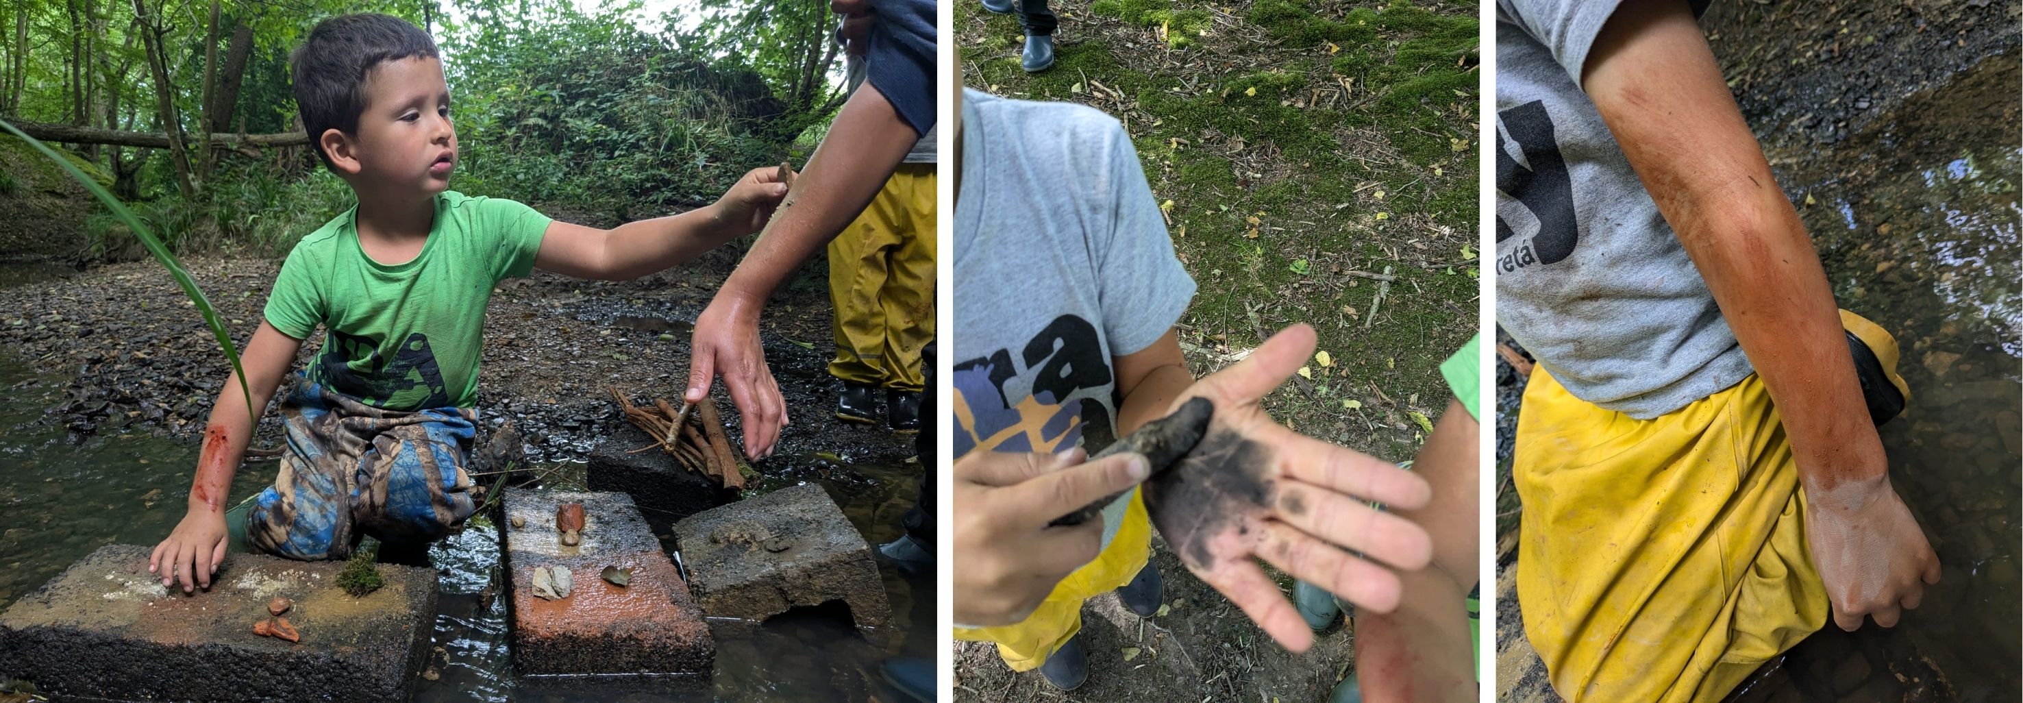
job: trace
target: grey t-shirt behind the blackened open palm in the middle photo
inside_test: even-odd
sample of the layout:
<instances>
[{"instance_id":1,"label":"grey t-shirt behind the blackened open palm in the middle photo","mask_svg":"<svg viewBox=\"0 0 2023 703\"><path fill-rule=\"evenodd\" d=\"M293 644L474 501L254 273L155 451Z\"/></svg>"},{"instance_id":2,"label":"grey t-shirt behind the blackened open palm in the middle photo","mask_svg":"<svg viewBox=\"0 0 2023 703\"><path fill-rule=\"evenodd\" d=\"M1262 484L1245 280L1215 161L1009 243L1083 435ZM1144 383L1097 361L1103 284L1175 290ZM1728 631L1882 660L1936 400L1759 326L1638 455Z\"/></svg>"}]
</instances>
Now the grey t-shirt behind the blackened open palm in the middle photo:
<instances>
[{"instance_id":1,"label":"grey t-shirt behind the blackened open palm in the middle photo","mask_svg":"<svg viewBox=\"0 0 2023 703\"><path fill-rule=\"evenodd\" d=\"M955 456L1098 452L1117 438L1111 357L1179 322L1173 255L1117 118L963 91L955 203ZM1105 543L1121 509L1105 511Z\"/></svg>"}]
</instances>

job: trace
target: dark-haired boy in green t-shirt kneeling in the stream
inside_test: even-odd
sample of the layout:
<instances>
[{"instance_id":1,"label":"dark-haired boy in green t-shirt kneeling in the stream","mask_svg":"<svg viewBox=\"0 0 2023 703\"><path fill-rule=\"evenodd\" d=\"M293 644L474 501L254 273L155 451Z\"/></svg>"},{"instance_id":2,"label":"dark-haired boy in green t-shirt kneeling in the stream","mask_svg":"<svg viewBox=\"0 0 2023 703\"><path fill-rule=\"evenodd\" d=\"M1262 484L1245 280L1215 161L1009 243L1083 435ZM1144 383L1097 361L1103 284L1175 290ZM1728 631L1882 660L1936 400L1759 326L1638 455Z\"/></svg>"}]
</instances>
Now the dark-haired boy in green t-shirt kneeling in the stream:
<instances>
[{"instance_id":1,"label":"dark-haired boy in green t-shirt kneeling in the stream","mask_svg":"<svg viewBox=\"0 0 2023 703\"><path fill-rule=\"evenodd\" d=\"M457 132L435 41L386 14L320 22L293 55L295 103L324 166L358 205L301 237L281 263L241 365L267 407L301 340L328 330L281 401L287 452L273 486L225 511L255 411L229 377L204 429L190 513L156 547L162 585L210 588L227 533L289 559L344 559L364 535L415 549L473 511L483 310L534 267L627 280L759 231L785 197L775 168L746 172L710 207L591 229L502 199L449 190Z\"/></svg>"}]
</instances>

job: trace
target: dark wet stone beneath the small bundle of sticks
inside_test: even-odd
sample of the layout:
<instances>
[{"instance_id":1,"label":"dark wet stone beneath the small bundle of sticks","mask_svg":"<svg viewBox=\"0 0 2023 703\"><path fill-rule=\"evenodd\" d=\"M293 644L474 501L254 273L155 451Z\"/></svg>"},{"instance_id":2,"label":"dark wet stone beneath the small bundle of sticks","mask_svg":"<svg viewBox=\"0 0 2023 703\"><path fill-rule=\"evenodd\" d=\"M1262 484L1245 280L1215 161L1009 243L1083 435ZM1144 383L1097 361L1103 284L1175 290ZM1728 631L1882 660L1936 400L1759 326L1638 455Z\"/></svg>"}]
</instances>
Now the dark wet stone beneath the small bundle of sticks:
<instances>
[{"instance_id":1,"label":"dark wet stone beneath the small bundle of sticks","mask_svg":"<svg viewBox=\"0 0 2023 703\"><path fill-rule=\"evenodd\" d=\"M617 490L657 525L674 525L684 517L728 504L736 490L724 490L722 480L688 470L668 452L633 450L653 444L639 427L621 423L595 450L585 468L591 490Z\"/></svg>"}]
</instances>

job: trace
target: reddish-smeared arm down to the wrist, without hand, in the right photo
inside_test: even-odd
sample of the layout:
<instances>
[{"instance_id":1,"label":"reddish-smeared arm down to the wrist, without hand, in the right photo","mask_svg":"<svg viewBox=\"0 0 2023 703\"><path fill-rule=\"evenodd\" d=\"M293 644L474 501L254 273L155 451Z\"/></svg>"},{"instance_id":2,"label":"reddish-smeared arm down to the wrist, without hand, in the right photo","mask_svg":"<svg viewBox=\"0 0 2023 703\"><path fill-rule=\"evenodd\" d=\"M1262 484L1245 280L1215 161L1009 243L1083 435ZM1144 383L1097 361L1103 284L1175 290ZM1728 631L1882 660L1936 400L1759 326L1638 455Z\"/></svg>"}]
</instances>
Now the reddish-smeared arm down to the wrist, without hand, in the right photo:
<instances>
[{"instance_id":1,"label":"reddish-smeared arm down to the wrist, without hand, in the right photo","mask_svg":"<svg viewBox=\"0 0 2023 703\"><path fill-rule=\"evenodd\" d=\"M1616 10L1584 89L1776 401L1807 488L1879 480L1819 253L1685 4Z\"/></svg>"}]
</instances>

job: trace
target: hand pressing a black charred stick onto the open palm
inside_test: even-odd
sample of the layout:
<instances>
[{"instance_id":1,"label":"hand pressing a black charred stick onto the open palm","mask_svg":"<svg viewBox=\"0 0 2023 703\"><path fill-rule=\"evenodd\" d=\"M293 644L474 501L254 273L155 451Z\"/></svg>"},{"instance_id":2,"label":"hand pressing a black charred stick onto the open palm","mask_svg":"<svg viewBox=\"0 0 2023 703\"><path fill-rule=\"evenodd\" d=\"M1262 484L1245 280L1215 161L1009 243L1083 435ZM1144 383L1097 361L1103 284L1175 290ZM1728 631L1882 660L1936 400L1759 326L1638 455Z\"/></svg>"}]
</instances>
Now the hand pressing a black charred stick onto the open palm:
<instances>
[{"instance_id":1,"label":"hand pressing a black charred stick onto the open palm","mask_svg":"<svg viewBox=\"0 0 2023 703\"><path fill-rule=\"evenodd\" d=\"M1103 551L1103 521L1048 527L1149 472L1143 454L969 452L955 460L955 622L1016 624Z\"/></svg>"}]
</instances>

